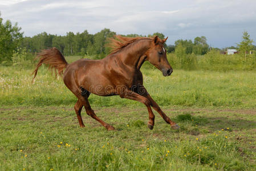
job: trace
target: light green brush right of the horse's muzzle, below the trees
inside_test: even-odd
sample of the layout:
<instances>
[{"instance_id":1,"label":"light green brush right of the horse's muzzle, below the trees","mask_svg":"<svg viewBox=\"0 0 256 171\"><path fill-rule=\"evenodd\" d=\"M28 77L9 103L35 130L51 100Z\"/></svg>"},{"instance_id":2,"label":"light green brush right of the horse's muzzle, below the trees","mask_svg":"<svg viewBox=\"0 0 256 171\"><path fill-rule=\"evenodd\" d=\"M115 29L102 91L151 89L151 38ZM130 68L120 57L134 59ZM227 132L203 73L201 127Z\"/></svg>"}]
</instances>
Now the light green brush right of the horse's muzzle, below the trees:
<instances>
[{"instance_id":1,"label":"light green brush right of the horse's muzzle, below the trees","mask_svg":"<svg viewBox=\"0 0 256 171\"><path fill-rule=\"evenodd\" d=\"M212 71L250 71L256 70L256 54L224 55L212 50L202 56L185 53L171 53L167 58L174 69L212 70Z\"/></svg>"}]
</instances>

